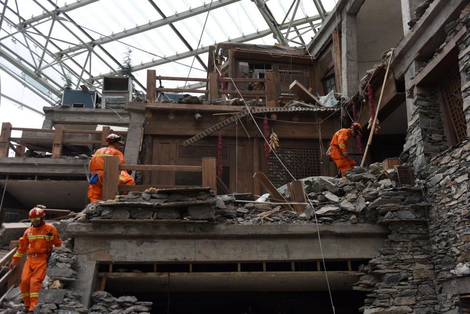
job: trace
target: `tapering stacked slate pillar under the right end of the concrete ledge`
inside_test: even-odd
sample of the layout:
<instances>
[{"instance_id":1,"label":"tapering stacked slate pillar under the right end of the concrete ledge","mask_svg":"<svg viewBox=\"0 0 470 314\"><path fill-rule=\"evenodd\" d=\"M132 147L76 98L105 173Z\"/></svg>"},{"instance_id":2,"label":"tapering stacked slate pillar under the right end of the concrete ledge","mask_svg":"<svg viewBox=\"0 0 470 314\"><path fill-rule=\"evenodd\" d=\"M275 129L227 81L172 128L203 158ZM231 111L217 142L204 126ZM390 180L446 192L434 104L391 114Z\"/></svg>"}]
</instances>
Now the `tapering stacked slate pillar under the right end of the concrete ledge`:
<instances>
[{"instance_id":1,"label":"tapering stacked slate pillar under the right end of the concrete ledge","mask_svg":"<svg viewBox=\"0 0 470 314\"><path fill-rule=\"evenodd\" d=\"M359 269L354 290L369 291L364 314L431 314L439 311L427 221L406 219L389 225L384 247Z\"/></svg>"}]
</instances>

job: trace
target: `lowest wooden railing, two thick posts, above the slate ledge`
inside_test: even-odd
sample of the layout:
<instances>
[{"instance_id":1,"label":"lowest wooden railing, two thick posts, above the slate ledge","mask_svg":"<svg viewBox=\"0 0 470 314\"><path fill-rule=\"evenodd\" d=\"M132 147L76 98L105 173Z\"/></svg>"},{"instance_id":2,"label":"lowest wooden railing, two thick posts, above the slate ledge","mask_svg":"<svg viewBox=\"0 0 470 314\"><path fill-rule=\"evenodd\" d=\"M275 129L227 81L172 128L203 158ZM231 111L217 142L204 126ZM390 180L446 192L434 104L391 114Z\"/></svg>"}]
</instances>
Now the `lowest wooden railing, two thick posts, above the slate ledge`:
<instances>
[{"instance_id":1,"label":"lowest wooden railing, two thick posts, above the slate ledge","mask_svg":"<svg viewBox=\"0 0 470 314\"><path fill-rule=\"evenodd\" d=\"M145 191L148 188L189 188L189 185L123 185L119 184L120 170L138 171L185 171L202 172L201 187L212 188L217 193L215 158L202 158L201 166L175 166L175 165L119 165L117 156L104 157L103 167L103 200L114 199L119 191Z\"/></svg>"}]
</instances>

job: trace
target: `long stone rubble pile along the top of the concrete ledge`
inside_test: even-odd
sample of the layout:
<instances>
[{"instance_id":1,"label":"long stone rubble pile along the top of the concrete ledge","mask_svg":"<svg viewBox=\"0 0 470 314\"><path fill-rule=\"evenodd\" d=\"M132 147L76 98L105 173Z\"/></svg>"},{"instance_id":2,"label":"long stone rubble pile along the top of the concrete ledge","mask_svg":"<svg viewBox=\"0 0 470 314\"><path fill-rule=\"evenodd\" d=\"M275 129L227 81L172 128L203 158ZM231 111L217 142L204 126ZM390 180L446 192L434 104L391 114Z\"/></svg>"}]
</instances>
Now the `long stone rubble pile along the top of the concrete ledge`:
<instances>
[{"instance_id":1,"label":"long stone rubble pile along the top of the concrete ledge","mask_svg":"<svg viewBox=\"0 0 470 314\"><path fill-rule=\"evenodd\" d=\"M305 180L305 193L313 206L303 213L282 211L260 219L258 214L281 209L269 202L243 202L239 195L214 196L209 189L164 189L131 192L114 201L89 204L75 220L93 219L176 219L216 221L227 224L287 223L380 223L393 219L423 219L422 191L419 187L395 187L391 179L378 180L379 163L369 171L355 167L341 179L318 177ZM392 173L393 177L393 173ZM289 195L284 195L289 200Z\"/></svg>"}]
</instances>

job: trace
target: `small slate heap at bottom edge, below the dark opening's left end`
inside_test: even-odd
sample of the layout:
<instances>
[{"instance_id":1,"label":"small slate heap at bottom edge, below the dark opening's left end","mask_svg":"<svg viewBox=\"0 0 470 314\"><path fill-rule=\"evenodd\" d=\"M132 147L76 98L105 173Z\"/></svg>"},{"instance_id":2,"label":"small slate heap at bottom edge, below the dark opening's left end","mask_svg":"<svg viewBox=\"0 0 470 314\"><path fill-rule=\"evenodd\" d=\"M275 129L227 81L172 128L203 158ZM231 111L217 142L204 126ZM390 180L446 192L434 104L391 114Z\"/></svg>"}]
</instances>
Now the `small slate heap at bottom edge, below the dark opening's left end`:
<instances>
[{"instance_id":1,"label":"small slate heap at bottom edge, below the dark opening's left end","mask_svg":"<svg viewBox=\"0 0 470 314\"><path fill-rule=\"evenodd\" d=\"M106 291L92 293L89 314L149 314L152 302L139 302L135 296L113 297Z\"/></svg>"}]
</instances>

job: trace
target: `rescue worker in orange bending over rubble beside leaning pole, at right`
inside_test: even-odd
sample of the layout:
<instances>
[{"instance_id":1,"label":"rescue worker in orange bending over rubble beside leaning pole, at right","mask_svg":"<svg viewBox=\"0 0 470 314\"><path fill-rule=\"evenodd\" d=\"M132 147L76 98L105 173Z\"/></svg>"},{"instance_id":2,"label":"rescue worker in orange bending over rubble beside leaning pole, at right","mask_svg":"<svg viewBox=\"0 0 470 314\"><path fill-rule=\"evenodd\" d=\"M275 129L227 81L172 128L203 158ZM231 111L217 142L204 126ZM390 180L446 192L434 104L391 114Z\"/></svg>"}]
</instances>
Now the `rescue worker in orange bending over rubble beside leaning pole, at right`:
<instances>
[{"instance_id":1,"label":"rescue worker in orange bending over rubble beside leaning pole, at right","mask_svg":"<svg viewBox=\"0 0 470 314\"><path fill-rule=\"evenodd\" d=\"M354 122L349 129L341 129L334 133L329 144L329 157L339 168L342 176L356 165L356 162L348 157L346 149L349 145L349 139L357 135L362 136L362 125Z\"/></svg>"}]
</instances>

